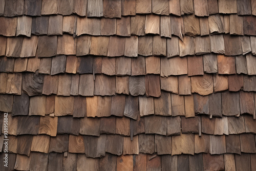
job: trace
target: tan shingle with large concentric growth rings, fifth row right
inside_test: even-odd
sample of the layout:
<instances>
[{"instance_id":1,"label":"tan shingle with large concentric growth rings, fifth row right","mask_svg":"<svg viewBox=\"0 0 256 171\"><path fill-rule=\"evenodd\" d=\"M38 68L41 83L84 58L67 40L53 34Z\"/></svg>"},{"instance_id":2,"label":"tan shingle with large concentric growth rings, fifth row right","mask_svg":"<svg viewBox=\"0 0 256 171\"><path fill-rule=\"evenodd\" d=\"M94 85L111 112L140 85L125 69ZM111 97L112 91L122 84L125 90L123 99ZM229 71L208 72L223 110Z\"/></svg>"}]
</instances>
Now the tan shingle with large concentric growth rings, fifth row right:
<instances>
[{"instance_id":1,"label":"tan shingle with large concentric growth rings, fifth row right","mask_svg":"<svg viewBox=\"0 0 256 171\"><path fill-rule=\"evenodd\" d=\"M200 95L208 95L214 91L212 76L204 74L203 76L191 77L191 92Z\"/></svg>"}]
</instances>

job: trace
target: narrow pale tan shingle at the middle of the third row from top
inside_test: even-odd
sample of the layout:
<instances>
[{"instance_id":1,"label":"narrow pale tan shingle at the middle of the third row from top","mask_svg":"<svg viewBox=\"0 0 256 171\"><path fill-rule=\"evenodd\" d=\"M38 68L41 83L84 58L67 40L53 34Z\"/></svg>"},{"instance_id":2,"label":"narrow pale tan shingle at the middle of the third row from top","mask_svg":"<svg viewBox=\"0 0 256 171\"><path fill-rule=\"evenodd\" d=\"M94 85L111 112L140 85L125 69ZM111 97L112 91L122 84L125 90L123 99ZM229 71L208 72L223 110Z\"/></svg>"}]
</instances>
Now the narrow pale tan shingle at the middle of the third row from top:
<instances>
[{"instance_id":1,"label":"narrow pale tan shingle at the middle of the third row from top","mask_svg":"<svg viewBox=\"0 0 256 171\"><path fill-rule=\"evenodd\" d=\"M125 37L124 56L137 57L138 56L138 37Z\"/></svg>"}]
</instances>

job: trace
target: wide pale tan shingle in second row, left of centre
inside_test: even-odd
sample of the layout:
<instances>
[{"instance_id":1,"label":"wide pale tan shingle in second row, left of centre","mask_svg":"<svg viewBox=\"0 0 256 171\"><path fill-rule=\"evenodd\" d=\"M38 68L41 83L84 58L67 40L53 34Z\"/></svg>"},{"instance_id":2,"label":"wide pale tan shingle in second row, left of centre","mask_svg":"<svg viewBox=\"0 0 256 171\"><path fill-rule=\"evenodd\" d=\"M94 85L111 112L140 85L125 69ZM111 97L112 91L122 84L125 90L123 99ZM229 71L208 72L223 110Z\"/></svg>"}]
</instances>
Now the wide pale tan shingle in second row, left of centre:
<instances>
[{"instance_id":1,"label":"wide pale tan shingle in second row, left of centre","mask_svg":"<svg viewBox=\"0 0 256 171\"><path fill-rule=\"evenodd\" d=\"M102 0L101 0L102 1ZM99 1L93 1L98 3ZM88 1L88 8L89 8ZM89 11L87 11L89 12ZM77 17L77 28L76 35L89 34L89 35L100 35L100 19L99 18L89 18L89 17Z\"/></svg>"}]
</instances>

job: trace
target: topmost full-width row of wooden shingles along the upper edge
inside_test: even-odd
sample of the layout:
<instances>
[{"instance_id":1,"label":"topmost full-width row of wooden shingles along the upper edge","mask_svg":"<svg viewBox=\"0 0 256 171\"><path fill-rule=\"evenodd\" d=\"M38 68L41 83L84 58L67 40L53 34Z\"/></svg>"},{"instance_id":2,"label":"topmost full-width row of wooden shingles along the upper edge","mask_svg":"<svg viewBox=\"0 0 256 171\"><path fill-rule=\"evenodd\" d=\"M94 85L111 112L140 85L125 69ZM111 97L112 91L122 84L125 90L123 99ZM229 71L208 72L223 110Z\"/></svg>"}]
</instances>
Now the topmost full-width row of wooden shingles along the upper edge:
<instances>
[{"instance_id":1,"label":"topmost full-width row of wooden shingles along the upper edge","mask_svg":"<svg viewBox=\"0 0 256 171\"><path fill-rule=\"evenodd\" d=\"M255 13L255 2L247 2L243 0L229 2L225 1L185 1L185 0L165 0L158 2L157 0L118 0L118 1L77 1L73 2L70 0L66 1L37 1L30 2L20 1L13 6L13 1L5 2L2 1L2 8L0 14L5 16L16 16L16 15L52 15L62 14L70 15L76 13L80 16L90 17L117 17L121 15L136 15L155 13L160 15L183 15L193 14L195 9L195 15L197 16L208 16L216 13L238 13L239 15L256 15ZM83 8L79 8L83 6ZM36 7L36 8L34 8ZM96 8L97 7L97 8ZM115 7L109 10L109 7Z\"/></svg>"}]
</instances>

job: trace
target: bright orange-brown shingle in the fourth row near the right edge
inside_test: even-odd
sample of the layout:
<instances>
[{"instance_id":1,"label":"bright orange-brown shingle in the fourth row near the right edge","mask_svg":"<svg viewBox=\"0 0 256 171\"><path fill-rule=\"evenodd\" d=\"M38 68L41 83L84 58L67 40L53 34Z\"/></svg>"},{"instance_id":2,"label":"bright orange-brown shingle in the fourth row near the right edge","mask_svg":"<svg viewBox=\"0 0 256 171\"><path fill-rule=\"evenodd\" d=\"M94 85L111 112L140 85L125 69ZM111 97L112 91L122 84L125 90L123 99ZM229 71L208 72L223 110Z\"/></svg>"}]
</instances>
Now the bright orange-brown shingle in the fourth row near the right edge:
<instances>
[{"instance_id":1,"label":"bright orange-brown shingle in the fourth row near the right edge","mask_svg":"<svg viewBox=\"0 0 256 171\"><path fill-rule=\"evenodd\" d=\"M219 74L236 74L236 58L233 56L217 55Z\"/></svg>"}]
</instances>

